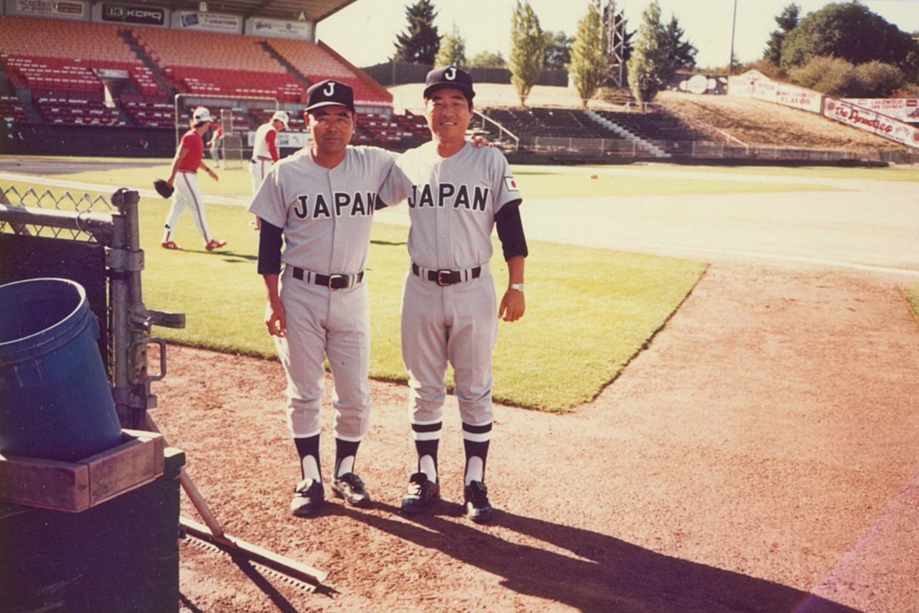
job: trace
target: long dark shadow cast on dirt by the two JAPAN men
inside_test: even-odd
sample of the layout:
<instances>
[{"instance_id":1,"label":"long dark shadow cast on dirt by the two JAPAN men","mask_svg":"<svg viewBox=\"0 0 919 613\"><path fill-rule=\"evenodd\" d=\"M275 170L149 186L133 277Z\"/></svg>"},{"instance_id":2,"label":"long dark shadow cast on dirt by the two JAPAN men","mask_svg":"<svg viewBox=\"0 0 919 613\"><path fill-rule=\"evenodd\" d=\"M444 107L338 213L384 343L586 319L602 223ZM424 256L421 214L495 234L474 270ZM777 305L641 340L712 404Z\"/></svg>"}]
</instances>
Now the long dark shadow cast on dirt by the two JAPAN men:
<instances>
[{"instance_id":1,"label":"long dark shadow cast on dirt by the two JAPAN men","mask_svg":"<svg viewBox=\"0 0 919 613\"><path fill-rule=\"evenodd\" d=\"M413 523L340 508L342 514L371 528L503 576L502 585L519 594L582 611L859 613L787 585L672 558L598 532L497 510L494 526L539 539L549 547L516 544L472 524L444 518L461 514L455 504L441 503L439 516L409 518ZM399 513L391 505L376 508Z\"/></svg>"}]
</instances>

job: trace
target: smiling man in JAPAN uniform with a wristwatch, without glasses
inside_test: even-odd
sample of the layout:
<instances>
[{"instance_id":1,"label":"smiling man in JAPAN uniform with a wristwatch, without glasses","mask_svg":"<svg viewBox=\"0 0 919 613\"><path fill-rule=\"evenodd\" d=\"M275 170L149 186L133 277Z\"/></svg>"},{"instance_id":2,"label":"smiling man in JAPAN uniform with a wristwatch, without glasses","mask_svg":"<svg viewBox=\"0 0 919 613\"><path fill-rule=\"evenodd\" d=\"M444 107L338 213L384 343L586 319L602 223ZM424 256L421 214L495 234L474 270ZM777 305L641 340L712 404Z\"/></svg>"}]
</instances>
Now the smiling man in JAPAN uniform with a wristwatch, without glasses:
<instances>
[{"instance_id":1,"label":"smiling man in JAPAN uniform with a wristwatch, without glasses","mask_svg":"<svg viewBox=\"0 0 919 613\"><path fill-rule=\"evenodd\" d=\"M402 348L418 471L403 496L403 512L420 513L440 498L437 447L450 363L466 453L466 515L482 523L492 516L484 483L493 421L492 353L498 319L523 316L528 251L520 192L505 156L466 138L474 96L471 76L456 66L427 74L425 115L433 140L397 159L380 196L387 203L407 199L412 221ZM500 305L489 270L495 226L509 277Z\"/></svg>"}]
</instances>

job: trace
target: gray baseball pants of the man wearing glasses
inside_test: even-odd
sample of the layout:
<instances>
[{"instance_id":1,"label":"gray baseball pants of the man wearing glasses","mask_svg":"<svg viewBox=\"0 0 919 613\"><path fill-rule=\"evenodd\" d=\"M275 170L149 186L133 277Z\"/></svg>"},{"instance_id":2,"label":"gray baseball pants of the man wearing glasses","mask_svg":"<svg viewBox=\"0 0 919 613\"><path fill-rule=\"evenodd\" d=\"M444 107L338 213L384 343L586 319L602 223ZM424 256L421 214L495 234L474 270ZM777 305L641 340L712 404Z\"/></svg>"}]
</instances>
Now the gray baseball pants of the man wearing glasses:
<instances>
[{"instance_id":1,"label":"gray baseball pants of the man wearing glasses","mask_svg":"<svg viewBox=\"0 0 919 613\"><path fill-rule=\"evenodd\" d=\"M322 430L323 361L328 357L335 380L335 437L359 441L367 434L371 405L367 283L332 290L293 278L291 272L285 267L280 287L287 333L275 336L288 379L290 432L302 438Z\"/></svg>"}]
</instances>

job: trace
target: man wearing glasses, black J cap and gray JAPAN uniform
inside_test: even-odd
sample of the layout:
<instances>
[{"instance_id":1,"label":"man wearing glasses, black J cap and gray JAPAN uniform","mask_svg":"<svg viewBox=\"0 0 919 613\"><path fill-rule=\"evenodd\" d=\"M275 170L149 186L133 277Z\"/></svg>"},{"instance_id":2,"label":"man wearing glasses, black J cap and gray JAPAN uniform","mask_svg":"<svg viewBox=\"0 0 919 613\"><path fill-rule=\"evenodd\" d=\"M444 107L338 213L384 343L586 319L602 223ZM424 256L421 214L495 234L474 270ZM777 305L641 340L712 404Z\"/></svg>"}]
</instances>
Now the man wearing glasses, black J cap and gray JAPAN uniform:
<instances>
[{"instance_id":1,"label":"man wearing glasses, black J cap and gray JAPAN uniform","mask_svg":"<svg viewBox=\"0 0 919 613\"><path fill-rule=\"evenodd\" d=\"M335 380L332 491L348 505L370 504L355 473L370 412L364 267L377 192L394 161L377 147L348 146L357 127L348 85L312 85L303 115L312 145L273 165L249 207L261 220L265 323L287 374L288 426L301 460L290 511L301 517L324 501L319 435L325 358Z\"/></svg>"}]
</instances>

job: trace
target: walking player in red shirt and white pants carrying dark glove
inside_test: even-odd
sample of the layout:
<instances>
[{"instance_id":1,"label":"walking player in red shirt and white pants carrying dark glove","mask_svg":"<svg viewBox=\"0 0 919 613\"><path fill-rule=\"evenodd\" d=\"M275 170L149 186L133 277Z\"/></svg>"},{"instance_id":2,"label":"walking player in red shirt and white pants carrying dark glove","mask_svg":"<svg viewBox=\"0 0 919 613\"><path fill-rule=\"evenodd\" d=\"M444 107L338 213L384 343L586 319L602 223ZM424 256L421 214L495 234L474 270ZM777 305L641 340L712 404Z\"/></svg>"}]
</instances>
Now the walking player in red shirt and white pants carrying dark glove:
<instances>
[{"instance_id":1,"label":"walking player in red shirt and white pants carrying dark glove","mask_svg":"<svg viewBox=\"0 0 919 613\"><path fill-rule=\"evenodd\" d=\"M227 244L226 241L218 241L210 237L208 220L204 214L204 199L198 187L199 168L203 168L213 180L218 180L217 173L203 162L203 136L210 128L210 121L210 111L207 108L196 108L191 117L191 129L182 136L176 157L173 158L172 170L166 183L176 187L176 193L173 196L172 208L169 209L169 214L166 216L162 243L164 249L182 248L173 240L173 234L176 233L178 220L186 209L191 213L191 219L195 221L198 232L204 238L205 249L212 251Z\"/></svg>"}]
</instances>

